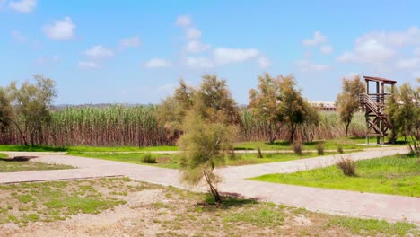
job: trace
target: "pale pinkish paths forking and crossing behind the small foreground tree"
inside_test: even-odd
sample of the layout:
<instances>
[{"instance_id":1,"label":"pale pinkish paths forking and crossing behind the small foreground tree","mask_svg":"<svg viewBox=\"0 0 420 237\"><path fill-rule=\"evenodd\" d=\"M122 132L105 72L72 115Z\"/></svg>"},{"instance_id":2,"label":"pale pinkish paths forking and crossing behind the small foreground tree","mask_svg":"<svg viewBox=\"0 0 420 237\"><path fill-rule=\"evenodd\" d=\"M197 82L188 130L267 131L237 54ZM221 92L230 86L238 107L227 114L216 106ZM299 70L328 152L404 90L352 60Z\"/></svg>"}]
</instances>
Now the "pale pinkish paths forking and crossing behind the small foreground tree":
<instances>
[{"instance_id":1,"label":"pale pinkish paths forking and crossing behind the small foreground tree","mask_svg":"<svg viewBox=\"0 0 420 237\"><path fill-rule=\"evenodd\" d=\"M325 167L334 164L341 157L350 156L354 160L363 160L406 152L407 148L405 147L385 147L353 154L321 156L298 161L226 167L216 172L223 177L223 182L219 184L219 188L223 192L238 193L247 198L258 198L277 204L298 206L308 210L330 214L372 217L389 221L409 221L420 224L420 198L244 180L245 178L268 173L288 173ZM178 170L68 156L57 153L6 152L6 154L11 156L37 156L38 158L34 160L38 162L73 165L74 167L78 167L78 169L1 173L0 183L124 175L134 180L188 189L188 187L184 187L179 182ZM205 191L206 186L195 189Z\"/></svg>"}]
</instances>

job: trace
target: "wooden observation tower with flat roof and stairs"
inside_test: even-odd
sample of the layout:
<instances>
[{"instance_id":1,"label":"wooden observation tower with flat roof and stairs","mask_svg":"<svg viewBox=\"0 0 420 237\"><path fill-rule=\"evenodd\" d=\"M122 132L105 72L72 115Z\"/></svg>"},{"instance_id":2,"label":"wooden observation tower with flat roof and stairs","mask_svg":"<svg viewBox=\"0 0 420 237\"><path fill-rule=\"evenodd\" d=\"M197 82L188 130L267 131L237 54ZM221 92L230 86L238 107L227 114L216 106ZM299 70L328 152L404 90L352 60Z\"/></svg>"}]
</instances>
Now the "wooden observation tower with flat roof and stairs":
<instances>
[{"instance_id":1,"label":"wooden observation tower with flat roof and stairs","mask_svg":"<svg viewBox=\"0 0 420 237\"><path fill-rule=\"evenodd\" d=\"M385 143L385 136L388 135L389 123L386 114L386 102L390 93L385 92L385 86L390 85L390 92L394 91L396 81L381 77L363 76L366 82L366 92L360 94L359 102L364 108L367 124L366 142L369 144L369 137L376 136L377 144ZM374 87L370 88L373 83ZM373 89L373 92L371 92ZM381 141L382 140L382 141Z\"/></svg>"}]
</instances>

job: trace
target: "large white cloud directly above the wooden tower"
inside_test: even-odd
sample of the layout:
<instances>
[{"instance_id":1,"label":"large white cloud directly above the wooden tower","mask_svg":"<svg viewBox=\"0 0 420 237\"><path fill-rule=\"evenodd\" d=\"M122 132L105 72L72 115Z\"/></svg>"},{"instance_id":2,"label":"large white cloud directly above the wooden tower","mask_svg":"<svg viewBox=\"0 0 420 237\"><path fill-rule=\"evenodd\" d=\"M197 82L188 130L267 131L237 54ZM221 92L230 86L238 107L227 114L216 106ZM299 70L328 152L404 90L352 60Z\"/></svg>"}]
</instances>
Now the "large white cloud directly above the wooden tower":
<instances>
[{"instance_id":1,"label":"large white cloud directly above the wooden tower","mask_svg":"<svg viewBox=\"0 0 420 237\"><path fill-rule=\"evenodd\" d=\"M345 52L337 59L340 62L383 63L396 54L394 49L385 46L379 40L366 39L357 41L353 52Z\"/></svg>"}]
</instances>

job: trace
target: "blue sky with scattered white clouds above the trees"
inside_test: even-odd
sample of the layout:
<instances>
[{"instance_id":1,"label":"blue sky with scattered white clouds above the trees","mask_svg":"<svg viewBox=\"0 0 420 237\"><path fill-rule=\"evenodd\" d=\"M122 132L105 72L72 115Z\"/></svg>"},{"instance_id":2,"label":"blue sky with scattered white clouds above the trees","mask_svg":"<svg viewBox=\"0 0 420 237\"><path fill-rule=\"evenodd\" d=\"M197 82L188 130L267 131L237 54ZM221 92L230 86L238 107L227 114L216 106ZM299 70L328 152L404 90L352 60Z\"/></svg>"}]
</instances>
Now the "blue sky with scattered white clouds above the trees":
<instances>
[{"instance_id":1,"label":"blue sky with scattered white clouds above the trees","mask_svg":"<svg viewBox=\"0 0 420 237\"><path fill-rule=\"evenodd\" d=\"M0 86L42 74L57 104L157 103L179 78L227 80L249 101L258 75L293 73L311 101L341 79L420 77L419 1L0 0Z\"/></svg>"}]
</instances>

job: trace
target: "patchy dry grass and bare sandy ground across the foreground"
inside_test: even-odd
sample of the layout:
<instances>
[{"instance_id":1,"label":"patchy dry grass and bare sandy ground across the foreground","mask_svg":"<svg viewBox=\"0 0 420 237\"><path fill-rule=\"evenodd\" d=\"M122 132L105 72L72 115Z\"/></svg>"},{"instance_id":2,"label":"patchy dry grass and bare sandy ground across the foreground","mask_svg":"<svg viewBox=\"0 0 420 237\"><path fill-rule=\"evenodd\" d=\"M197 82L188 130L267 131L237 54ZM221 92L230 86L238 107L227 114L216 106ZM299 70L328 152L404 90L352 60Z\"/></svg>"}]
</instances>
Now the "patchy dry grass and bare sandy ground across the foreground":
<instances>
[{"instance_id":1,"label":"patchy dry grass and bare sandy ground across the foreground","mask_svg":"<svg viewBox=\"0 0 420 237\"><path fill-rule=\"evenodd\" d=\"M206 194L127 178L0 186L2 236L416 236L403 222L324 215L290 206ZM75 228L75 226L77 226ZM18 228L19 227L19 228Z\"/></svg>"}]
</instances>

